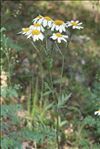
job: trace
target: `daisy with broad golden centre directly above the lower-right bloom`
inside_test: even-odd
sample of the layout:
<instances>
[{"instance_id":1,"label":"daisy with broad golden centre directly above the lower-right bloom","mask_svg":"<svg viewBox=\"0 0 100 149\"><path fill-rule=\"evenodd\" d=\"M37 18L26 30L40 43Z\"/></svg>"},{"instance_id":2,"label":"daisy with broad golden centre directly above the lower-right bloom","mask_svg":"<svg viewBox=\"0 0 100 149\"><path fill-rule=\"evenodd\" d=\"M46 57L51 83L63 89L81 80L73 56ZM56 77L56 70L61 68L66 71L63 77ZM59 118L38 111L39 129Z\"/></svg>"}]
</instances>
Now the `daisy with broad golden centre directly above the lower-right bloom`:
<instances>
[{"instance_id":1,"label":"daisy with broad golden centre directly above the lower-right bloom","mask_svg":"<svg viewBox=\"0 0 100 149\"><path fill-rule=\"evenodd\" d=\"M65 32L66 31L66 24L64 23L64 21L62 20L55 20L53 22L53 25L51 27L51 31L59 31L60 33Z\"/></svg>"}]
</instances>

